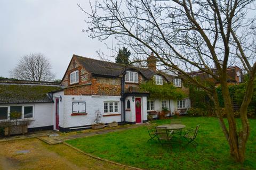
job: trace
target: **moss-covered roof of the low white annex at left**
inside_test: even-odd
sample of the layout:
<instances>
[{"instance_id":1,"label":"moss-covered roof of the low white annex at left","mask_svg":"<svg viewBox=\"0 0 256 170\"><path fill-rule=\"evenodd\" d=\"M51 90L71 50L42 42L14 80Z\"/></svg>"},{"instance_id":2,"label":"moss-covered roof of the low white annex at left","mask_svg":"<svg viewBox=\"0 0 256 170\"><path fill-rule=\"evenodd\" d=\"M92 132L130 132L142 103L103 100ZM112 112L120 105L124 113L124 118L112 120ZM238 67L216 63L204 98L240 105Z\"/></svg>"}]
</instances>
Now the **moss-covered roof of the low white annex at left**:
<instances>
[{"instance_id":1,"label":"moss-covered roof of the low white annex at left","mask_svg":"<svg viewBox=\"0 0 256 170\"><path fill-rule=\"evenodd\" d=\"M59 89L60 83L0 79L0 104L50 103L47 94Z\"/></svg>"}]
</instances>

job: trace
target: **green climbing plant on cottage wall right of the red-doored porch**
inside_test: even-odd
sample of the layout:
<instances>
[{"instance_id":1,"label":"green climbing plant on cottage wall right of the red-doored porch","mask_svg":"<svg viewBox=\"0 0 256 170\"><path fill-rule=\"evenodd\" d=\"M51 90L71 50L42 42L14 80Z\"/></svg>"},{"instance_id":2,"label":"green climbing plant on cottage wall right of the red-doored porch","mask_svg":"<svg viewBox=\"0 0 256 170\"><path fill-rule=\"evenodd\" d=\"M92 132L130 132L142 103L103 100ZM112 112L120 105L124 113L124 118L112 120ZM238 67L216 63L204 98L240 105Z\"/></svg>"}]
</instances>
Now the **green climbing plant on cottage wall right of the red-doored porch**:
<instances>
[{"instance_id":1,"label":"green climbing plant on cottage wall right of the red-doored porch","mask_svg":"<svg viewBox=\"0 0 256 170\"><path fill-rule=\"evenodd\" d=\"M140 84L141 91L148 91L149 98L156 99L184 99L187 94L181 88L174 87L173 84L163 83L156 85L154 81L148 81Z\"/></svg>"}]
</instances>

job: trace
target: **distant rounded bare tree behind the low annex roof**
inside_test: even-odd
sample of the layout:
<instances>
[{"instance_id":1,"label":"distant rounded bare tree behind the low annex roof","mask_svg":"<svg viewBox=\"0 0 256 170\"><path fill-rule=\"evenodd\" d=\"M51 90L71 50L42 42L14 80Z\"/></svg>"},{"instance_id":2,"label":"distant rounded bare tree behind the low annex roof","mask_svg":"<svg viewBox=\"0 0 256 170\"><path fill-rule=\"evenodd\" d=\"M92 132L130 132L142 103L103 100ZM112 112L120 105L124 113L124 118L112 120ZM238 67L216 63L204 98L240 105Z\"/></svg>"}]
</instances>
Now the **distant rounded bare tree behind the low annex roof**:
<instances>
[{"instance_id":1,"label":"distant rounded bare tree behind the low annex roof","mask_svg":"<svg viewBox=\"0 0 256 170\"><path fill-rule=\"evenodd\" d=\"M52 81L55 75L51 72L50 61L43 54L23 56L17 66L10 71L12 78L31 81Z\"/></svg>"}]
</instances>

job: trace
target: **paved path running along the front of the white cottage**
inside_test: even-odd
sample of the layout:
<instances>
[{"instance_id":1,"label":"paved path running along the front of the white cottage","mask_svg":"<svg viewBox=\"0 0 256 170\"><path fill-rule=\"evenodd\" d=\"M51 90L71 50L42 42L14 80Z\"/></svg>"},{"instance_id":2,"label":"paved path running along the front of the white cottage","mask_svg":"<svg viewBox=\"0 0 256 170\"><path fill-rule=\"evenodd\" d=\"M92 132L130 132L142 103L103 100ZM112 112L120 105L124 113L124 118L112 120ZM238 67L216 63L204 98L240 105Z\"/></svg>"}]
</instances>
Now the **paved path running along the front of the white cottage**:
<instances>
[{"instance_id":1,"label":"paved path running along the front of the white cottage","mask_svg":"<svg viewBox=\"0 0 256 170\"><path fill-rule=\"evenodd\" d=\"M91 137L94 135L106 134L109 132L118 132L118 131L123 131L123 130L127 130L127 129L134 129L134 128L138 128L138 126L141 126L141 125L144 125L144 124L141 123L141 124L135 124L135 125L118 126L116 128L105 128L105 129L101 129L101 130L77 131L77 132L65 133L65 135L60 133L60 135L58 135L58 136L51 137L49 135L45 135L45 136L41 136L41 137L37 137L37 138L48 143L49 145L55 145L58 143L62 143L65 140Z\"/></svg>"}]
</instances>

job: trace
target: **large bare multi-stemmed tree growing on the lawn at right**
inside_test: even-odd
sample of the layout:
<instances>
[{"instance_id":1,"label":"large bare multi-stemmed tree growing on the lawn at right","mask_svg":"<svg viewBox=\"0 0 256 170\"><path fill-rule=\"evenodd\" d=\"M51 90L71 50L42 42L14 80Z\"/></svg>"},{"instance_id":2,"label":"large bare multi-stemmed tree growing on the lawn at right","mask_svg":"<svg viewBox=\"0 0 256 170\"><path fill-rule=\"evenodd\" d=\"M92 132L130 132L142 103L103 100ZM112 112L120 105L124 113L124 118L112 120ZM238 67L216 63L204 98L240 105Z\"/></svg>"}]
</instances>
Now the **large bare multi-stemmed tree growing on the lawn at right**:
<instances>
[{"instance_id":1,"label":"large bare multi-stemmed tree growing on the lawn at right","mask_svg":"<svg viewBox=\"0 0 256 170\"><path fill-rule=\"evenodd\" d=\"M84 11L89 37L115 36L134 53L153 52L159 64L175 69L183 79L204 89L214 101L215 112L237 162L245 160L250 134L247 107L252 98L255 64L255 14L252 0L104 0ZM143 56L143 55L141 55ZM143 59L143 58L142 58ZM223 61L220 62L219 60ZM249 74L240 109L242 129L237 128L228 91L227 67L239 63ZM212 65L216 71L212 70ZM220 82L228 126L225 125L215 83L201 81L188 72L201 70Z\"/></svg>"}]
</instances>

